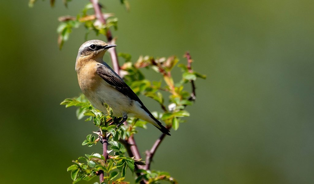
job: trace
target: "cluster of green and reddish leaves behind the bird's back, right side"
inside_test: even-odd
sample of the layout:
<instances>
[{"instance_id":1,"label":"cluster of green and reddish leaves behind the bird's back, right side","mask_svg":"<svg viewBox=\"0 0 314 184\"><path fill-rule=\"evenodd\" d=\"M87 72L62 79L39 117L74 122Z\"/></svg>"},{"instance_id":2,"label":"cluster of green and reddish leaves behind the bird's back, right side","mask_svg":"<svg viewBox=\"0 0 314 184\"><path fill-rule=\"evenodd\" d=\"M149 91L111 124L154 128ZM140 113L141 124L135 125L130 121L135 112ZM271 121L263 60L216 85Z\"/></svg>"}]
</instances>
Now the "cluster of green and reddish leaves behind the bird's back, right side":
<instances>
[{"instance_id":1,"label":"cluster of green and reddish leaves behind the bird's back, right side","mask_svg":"<svg viewBox=\"0 0 314 184\"><path fill-rule=\"evenodd\" d=\"M118 56L125 59L125 63L121 67L127 72L124 76L125 82L137 95L142 94L158 102L163 112L154 112L154 116L164 121L168 127L173 127L174 130L177 130L179 123L184 122L181 118L190 116L189 112L185 110L186 106L192 105L190 100L191 94L184 90L184 84L195 81L197 78L204 79L206 76L194 72L192 68L188 69L184 64L179 64L178 67L181 68L182 78L175 83L171 76L172 69L179 62L179 59L175 56L157 59L141 56L134 63L131 61L129 54L120 53ZM146 79L141 72L142 68L153 69L155 72L160 73L164 83ZM163 91L169 94L168 108L166 108L165 98L162 95Z\"/></svg>"}]
</instances>

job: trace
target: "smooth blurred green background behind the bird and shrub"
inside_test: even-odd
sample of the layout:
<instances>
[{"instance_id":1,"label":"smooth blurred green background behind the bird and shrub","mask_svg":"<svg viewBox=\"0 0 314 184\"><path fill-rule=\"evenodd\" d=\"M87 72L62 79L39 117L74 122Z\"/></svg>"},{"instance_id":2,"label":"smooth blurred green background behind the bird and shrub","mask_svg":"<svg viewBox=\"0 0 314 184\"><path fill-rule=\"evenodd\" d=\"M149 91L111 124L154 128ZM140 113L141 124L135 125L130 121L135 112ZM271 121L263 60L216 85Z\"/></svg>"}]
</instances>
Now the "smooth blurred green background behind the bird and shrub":
<instances>
[{"instance_id":1,"label":"smooth blurred green background behind the bird and shrub","mask_svg":"<svg viewBox=\"0 0 314 184\"><path fill-rule=\"evenodd\" d=\"M134 0L129 13L117 0L100 2L119 18L118 52L185 63L190 51L208 77L196 81L188 123L171 131L152 169L179 183L314 182L314 1ZM74 63L85 40L81 27L59 51L57 18L86 3L0 3L0 183L71 183L71 160L101 152L81 146L92 123L59 105L80 93ZM142 155L159 134L148 125L136 135Z\"/></svg>"}]
</instances>

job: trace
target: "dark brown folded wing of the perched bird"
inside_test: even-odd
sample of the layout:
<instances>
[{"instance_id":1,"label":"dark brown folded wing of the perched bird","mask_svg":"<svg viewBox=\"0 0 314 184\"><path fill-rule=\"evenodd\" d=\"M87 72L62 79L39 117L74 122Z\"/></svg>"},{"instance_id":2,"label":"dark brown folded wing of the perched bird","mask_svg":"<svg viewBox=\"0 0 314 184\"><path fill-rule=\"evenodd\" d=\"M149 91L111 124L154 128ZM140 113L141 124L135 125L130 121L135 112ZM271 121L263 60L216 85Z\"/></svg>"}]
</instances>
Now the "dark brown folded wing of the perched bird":
<instances>
[{"instance_id":1,"label":"dark brown folded wing of the perched bird","mask_svg":"<svg viewBox=\"0 0 314 184\"><path fill-rule=\"evenodd\" d=\"M141 104L142 108L144 107L143 102L138 98L134 91L112 70L102 64L98 64L96 73L109 85L111 85L111 87L115 88L123 95L126 95L131 100L138 101Z\"/></svg>"}]
</instances>

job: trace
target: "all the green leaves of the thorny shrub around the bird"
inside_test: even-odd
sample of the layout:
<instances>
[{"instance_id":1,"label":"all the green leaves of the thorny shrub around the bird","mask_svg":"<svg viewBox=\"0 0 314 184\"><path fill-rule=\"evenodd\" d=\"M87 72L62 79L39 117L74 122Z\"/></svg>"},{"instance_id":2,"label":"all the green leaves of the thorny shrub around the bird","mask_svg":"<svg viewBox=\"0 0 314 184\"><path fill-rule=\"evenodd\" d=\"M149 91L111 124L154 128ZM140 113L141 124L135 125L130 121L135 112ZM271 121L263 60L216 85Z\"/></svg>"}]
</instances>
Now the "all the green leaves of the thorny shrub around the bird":
<instances>
[{"instance_id":1,"label":"all the green leaves of the thorny shrub around the bird","mask_svg":"<svg viewBox=\"0 0 314 184\"><path fill-rule=\"evenodd\" d=\"M32 7L35 1L36 0L30 0L29 6ZM70 0L63 0L65 6L67 6L69 1ZM55 0L50 0L51 6L54 6L54 3ZM120 3L125 5L127 10L129 9L127 0L120 0ZM100 5L100 8L101 7ZM118 19L112 17L113 14L103 14L106 20L106 24L103 24L96 18L96 15L90 14L93 8L93 5L88 3L77 16L63 16L59 18L61 23L57 28L57 33L59 35L58 43L60 49L63 43L68 40L73 29L81 25L84 25L86 28L86 39L90 31L94 31L96 35L102 34L108 37L110 28L114 28L114 30L117 29ZM92 12L94 13L94 10ZM192 105L192 101L194 101L194 81L197 80L197 78L206 78L205 75L192 70L192 59L189 54L186 54L188 60L187 65L182 63L178 64L178 67L182 70L182 78L177 82L175 82L171 76L171 71L176 68L179 62L179 59L175 56L167 58L140 56L135 62L132 61L132 57L128 53L118 53L118 57L125 61L123 66L121 66L125 82L137 95L142 94L155 100L162 111L153 112L152 114L157 119L164 121L167 128L170 129L172 127L174 130L177 130L180 123L184 122L182 118L190 116L190 113L186 111L185 108L186 106ZM145 78L141 72L143 68L160 73L160 80L150 81ZM184 84L189 82L192 84L191 93L184 90ZM168 93L167 97L163 95L165 93ZM107 149L108 155L98 153L91 155L85 154L85 156L79 157L78 160L73 160L74 164L67 169L71 172L73 183L81 180L90 181L95 176L99 176L103 173L104 182L102 182L102 184L127 184L129 182L124 181L127 168L129 168L132 173L137 173L138 177L135 179L136 183L143 180L146 183L158 183L162 180L169 181L172 184L177 183L167 172L149 170L149 167L147 167L147 169L138 169L140 166L145 165L145 162L142 161L142 159L134 159L134 157L126 156L127 149L130 148L125 147L125 143L131 138L132 134L139 131L138 128L146 129L147 122L138 118L129 117L127 123L118 128L116 127L116 122L120 121L121 118L114 117L112 109L107 104L104 104L107 111L101 112L95 109L84 95L72 99L65 99L61 102L61 105L65 105L66 107L76 106L77 118L82 119L86 116L85 121L92 121L98 130L97 132L93 132L97 137L92 134L86 136L86 139L82 143L83 146L87 145L91 147L99 142L103 143L105 140L110 147Z\"/></svg>"}]
</instances>

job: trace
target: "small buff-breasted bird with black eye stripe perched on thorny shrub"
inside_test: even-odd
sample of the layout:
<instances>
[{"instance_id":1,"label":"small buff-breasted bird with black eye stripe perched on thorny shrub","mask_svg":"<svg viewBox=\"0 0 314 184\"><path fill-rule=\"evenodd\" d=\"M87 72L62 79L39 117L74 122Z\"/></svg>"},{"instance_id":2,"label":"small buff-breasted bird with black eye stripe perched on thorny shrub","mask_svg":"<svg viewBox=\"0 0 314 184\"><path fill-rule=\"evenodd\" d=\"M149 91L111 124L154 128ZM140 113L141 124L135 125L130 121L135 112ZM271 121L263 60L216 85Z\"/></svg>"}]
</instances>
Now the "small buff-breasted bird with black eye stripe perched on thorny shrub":
<instances>
[{"instance_id":1,"label":"small buff-breasted bird with black eye stripe perched on thorny shrub","mask_svg":"<svg viewBox=\"0 0 314 184\"><path fill-rule=\"evenodd\" d=\"M170 131L152 115L134 91L103 61L105 52L115 46L101 40L89 40L78 49L75 71L83 94L101 112L106 112L105 103L108 104L113 116L122 117L119 125L130 116L149 122L170 135Z\"/></svg>"}]
</instances>

